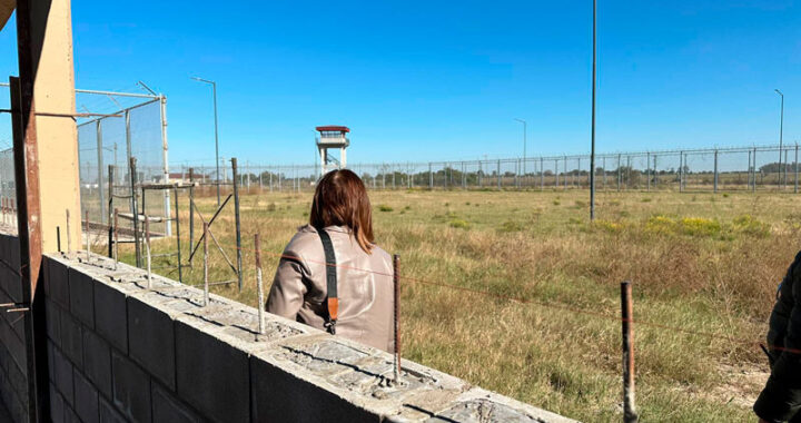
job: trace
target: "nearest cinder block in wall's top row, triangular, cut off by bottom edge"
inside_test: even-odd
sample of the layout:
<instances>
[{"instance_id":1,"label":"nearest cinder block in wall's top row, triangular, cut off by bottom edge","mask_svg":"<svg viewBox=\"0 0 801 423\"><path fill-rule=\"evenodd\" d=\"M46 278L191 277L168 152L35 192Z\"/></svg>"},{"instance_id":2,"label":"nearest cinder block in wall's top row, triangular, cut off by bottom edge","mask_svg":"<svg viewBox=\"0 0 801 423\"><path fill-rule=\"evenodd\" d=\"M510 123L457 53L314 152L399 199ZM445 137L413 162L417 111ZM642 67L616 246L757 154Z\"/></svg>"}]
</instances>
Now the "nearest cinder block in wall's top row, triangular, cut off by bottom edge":
<instances>
[{"instance_id":1,"label":"nearest cinder block in wall's top row, triangular, cut off by bottom edge","mask_svg":"<svg viewBox=\"0 0 801 423\"><path fill-rule=\"evenodd\" d=\"M253 421L380 422L382 416L257 357L250 357Z\"/></svg>"}]
</instances>

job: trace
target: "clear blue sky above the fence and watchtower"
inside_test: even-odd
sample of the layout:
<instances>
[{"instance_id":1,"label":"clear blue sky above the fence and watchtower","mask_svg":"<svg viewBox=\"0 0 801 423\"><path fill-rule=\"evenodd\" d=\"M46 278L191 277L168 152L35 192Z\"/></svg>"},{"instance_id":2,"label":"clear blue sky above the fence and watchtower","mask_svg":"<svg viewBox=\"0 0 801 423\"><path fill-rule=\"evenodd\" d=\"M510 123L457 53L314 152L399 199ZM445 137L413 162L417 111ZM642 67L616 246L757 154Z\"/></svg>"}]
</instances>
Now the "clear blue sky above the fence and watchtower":
<instances>
[{"instance_id":1,"label":"clear blue sky above the fence and watchtower","mask_svg":"<svg viewBox=\"0 0 801 423\"><path fill-rule=\"evenodd\" d=\"M601 0L599 150L777 142L774 88L801 141L799 3ZM171 163L214 158L190 76L217 80L241 161L310 163L323 124L352 128L352 163L521 156L513 118L530 156L590 148L590 0L73 1L72 21L78 88L168 96Z\"/></svg>"}]
</instances>

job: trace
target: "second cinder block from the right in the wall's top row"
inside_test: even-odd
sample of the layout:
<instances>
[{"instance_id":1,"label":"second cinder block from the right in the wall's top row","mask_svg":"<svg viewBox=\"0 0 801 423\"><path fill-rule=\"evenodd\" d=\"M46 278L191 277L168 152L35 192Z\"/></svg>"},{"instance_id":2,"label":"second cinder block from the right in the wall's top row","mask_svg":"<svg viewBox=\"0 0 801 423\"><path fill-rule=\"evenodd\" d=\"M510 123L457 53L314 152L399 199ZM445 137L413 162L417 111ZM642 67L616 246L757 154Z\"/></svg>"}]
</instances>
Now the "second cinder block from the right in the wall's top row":
<instances>
[{"instance_id":1,"label":"second cinder block from the right in the wall's top row","mask_svg":"<svg viewBox=\"0 0 801 423\"><path fill-rule=\"evenodd\" d=\"M250 421L248 355L176 321L178 396L214 422Z\"/></svg>"}]
</instances>

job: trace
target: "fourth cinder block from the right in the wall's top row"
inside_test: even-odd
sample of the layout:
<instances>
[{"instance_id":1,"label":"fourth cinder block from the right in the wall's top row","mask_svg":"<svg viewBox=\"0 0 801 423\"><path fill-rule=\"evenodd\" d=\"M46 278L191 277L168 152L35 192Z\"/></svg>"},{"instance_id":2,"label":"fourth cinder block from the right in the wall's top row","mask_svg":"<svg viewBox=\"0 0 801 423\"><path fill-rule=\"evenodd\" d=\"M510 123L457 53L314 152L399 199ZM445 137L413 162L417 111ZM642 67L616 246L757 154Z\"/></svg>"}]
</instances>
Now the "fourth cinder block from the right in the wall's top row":
<instances>
[{"instance_id":1,"label":"fourth cinder block from the right in the wall's top row","mask_svg":"<svg viewBox=\"0 0 801 423\"><path fill-rule=\"evenodd\" d=\"M95 284L95 328L123 354L128 354L127 309L123 293L102 283Z\"/></svg>"}]
</instances>

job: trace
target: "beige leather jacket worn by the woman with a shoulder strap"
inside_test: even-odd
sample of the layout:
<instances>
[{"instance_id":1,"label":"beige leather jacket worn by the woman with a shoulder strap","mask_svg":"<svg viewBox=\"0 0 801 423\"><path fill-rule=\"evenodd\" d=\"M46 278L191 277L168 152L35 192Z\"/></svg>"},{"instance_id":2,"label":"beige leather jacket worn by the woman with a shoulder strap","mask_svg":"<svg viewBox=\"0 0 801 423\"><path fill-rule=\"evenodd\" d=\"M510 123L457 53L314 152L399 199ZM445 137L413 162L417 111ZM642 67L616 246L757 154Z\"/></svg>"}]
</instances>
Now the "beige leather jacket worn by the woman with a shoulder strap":
<instances>
[{"instance_id":1,"label":"beige leather jacket worn by the woman with a shoulder strap","mask_svg":"<svg viewBox=\"0 0 801 423\"><path fill-rule=\"evenodd\" d=\"M378 246L373 247L372 254L365 253L348 227L329 226L325 230L332 238L337 260L337 335L392 351L394 304L389 254ZM267 312L325 331L328 291L325 263L317 229L309 225L300 227L284 249L267 299Z\"/></svg>"}]
</instances>

